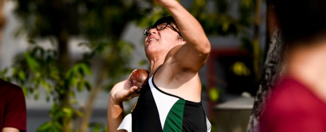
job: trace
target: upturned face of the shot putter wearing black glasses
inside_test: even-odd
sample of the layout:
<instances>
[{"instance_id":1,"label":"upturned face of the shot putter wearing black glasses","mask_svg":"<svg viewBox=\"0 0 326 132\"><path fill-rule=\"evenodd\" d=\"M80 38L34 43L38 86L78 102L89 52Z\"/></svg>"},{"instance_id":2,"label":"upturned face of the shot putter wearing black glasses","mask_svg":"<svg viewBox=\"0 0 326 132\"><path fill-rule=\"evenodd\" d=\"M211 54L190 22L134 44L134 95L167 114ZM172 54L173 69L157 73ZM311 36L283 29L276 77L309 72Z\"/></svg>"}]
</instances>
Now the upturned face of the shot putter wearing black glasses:
<instances>
[{"instance_id":1,"label":"upturned face of the shot putter wearing black glasses","mask_svg":"<svg viewBox=\"0 0 326 132\"><path fill-rule=\"evenodd\" d=\"M146 33L144 34L146 35ZM154 51L170 50L174 46L182 44L182 41L177 39L178 35L173 24L163 23L152 27L148 30L145 38L146 55Z\"/></svg>"}]
</instances>

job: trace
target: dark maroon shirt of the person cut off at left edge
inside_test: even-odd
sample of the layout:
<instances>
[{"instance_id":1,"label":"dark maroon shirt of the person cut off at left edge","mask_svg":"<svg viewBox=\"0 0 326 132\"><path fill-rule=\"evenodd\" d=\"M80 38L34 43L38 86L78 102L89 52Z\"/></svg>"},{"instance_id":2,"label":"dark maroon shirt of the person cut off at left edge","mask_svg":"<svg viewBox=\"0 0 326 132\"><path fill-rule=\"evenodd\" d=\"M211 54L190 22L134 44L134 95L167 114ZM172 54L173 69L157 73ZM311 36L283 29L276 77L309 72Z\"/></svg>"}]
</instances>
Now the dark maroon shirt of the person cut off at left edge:
<instances>
[{"instance_id":1,"label":"dark maroon shirt of the person cut off at left edge","mask_svg":"<svg viewBox=\"0 0 326 132\"><path fill-rule=\"evenodd\" d=\"M4 127L26 131L26 104L19 86L0 79L0 131Z\"/></svg>"}]
</instances>

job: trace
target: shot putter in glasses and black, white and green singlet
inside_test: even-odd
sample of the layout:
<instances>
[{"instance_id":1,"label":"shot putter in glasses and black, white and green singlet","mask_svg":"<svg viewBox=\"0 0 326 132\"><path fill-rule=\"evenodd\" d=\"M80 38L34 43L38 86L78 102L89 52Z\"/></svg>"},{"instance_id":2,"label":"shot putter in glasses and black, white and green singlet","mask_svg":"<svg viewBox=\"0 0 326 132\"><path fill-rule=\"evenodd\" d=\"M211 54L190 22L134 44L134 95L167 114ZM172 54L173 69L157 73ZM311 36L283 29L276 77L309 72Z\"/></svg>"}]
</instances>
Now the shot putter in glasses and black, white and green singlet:
<instances>
[{"instance_id":1,"label":"shot putter in glasses and black, white and green singlet","mask_svg":"<svg viewBox=\"0 0 326 132\"><path fill-rule=\"evenodd\" d=\"M115 84L108 102L108 131L208 132L201 103L198 70L206 63L211 44L200 23L176 0L156 0L173 17L163 17L144 31L150 61L149 88L140 95L129 79ZM123 118L122 101L139 96ZM122 123L121 123L122 122ZM121 124L120 124L121 123Z\"/></svg>"}]
</instances>

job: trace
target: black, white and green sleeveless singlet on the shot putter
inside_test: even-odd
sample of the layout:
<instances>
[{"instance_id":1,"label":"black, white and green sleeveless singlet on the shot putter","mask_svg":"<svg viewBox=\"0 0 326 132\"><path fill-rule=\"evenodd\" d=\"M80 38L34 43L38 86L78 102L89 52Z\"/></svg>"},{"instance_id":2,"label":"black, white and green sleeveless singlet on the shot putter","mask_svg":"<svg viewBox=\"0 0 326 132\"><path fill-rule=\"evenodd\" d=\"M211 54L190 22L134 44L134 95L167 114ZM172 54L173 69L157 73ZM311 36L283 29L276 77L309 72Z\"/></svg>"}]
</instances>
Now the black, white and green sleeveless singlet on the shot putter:
<instances>
[{"instance_id":1,"label":"black, white and green sleeveless singlet on the shot putter","mask_svg":"<svg viewBox=\"0 0 326 132\"><path fill-rule=\"evenodd\" d=\"M155 72L156 73L156 72ZM154 73L154 75L155 75ZM201 102L192 102L160 90L149 79L131 114L118 130L127 132L211 132L211 123Z\"/></svg>"}]
</instances>

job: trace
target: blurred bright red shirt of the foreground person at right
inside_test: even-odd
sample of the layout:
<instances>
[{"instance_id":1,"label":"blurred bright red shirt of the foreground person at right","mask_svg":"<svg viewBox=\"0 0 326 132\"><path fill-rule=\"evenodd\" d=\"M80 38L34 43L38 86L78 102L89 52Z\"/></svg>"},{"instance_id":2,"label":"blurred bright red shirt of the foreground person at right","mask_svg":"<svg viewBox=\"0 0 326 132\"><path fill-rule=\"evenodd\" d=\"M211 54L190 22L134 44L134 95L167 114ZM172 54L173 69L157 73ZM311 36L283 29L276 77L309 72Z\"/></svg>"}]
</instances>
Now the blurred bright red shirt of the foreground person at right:
<instances>
[{"instance_id":1,"label":"blurred bright red shirt of the foreground person at right","mask_svg":"<svg viewBox=\"0 0 326 132\"><path fill-rule=\"evenodd\" d=\"M260 120L261 132L326 132L326 103L300 82L275 87Z\"/></svg>"}]
</instances>

